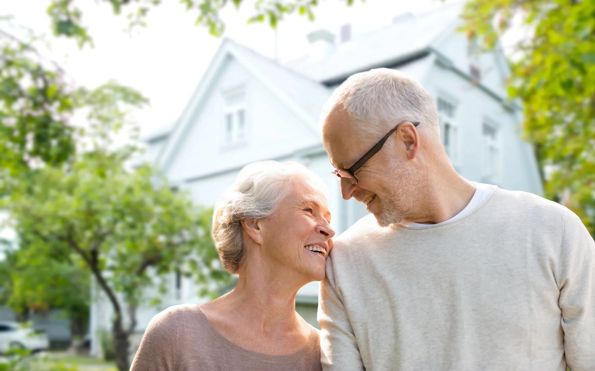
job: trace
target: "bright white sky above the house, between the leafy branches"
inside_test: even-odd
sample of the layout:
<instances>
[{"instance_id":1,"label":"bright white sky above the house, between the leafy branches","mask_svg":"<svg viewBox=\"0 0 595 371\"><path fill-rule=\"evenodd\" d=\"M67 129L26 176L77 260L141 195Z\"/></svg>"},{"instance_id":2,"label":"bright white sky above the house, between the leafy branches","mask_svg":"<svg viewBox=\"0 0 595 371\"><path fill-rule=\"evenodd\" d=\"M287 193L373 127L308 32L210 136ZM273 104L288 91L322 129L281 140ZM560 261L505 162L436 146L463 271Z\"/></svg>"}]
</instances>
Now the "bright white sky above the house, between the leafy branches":
<instances>
[{"instance_id":1,"label":"bright white sky above the house, between the leafy branches","mask_svg":"<svg viewBox=\"0 0 595 371\"><path fill-rule=\"evenodd\" d=\"M217 51L221 39L194 26L196 12L186 13L177 0L163 0L149 13L148 27L124 32L124 14L114 17L105 0L77 0L84 23L90 27L95 48L82 51L74 40L56 39L49 32L45 8L49 0L0 0L0 15L14 15L14 22L45 33L51 41L49 57L58 61L79 85L94 87L109 79L132 86L151 99L151 107L135 114L143 135L176 120L198 85L203 72ZM346 7L345 0L322 0L316 20L286 18L278 27L277 55L291 60L308 52L306 34L325 28L338 33L352 23L353 35L389 24L396 15L421 13L441 5L440 0L356 0ZM126 13L126 11L124 12ZM224 11L225 37L273 58L275 32L266 24L246 24L253 13L253 0L236 11Z\"/></svg>"}]
</instances>

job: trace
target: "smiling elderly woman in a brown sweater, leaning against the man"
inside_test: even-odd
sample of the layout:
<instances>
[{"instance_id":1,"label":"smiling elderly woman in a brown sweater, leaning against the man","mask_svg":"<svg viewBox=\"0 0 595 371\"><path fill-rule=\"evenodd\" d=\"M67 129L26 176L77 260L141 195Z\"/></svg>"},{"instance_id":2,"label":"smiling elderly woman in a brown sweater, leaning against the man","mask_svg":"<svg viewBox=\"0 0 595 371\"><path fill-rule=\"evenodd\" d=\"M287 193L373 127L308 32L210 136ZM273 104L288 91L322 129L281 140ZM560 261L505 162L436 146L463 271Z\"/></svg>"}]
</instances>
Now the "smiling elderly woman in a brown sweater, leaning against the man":
<instances>
[{"instance_id":1,"label":"smiling elderly woman in a brown sweater, leaning against the man","mask_svg":"<svg viewBox=\"0 0 595 371\"><path fill-rule=\"evenodd\" d=\"M333 247L324 183L296 163L254 163L215 209L215 246L236 288L155 316L131 370L322 370L318 330L295 297L324 279Z\"/></svg>"}]
</instances>

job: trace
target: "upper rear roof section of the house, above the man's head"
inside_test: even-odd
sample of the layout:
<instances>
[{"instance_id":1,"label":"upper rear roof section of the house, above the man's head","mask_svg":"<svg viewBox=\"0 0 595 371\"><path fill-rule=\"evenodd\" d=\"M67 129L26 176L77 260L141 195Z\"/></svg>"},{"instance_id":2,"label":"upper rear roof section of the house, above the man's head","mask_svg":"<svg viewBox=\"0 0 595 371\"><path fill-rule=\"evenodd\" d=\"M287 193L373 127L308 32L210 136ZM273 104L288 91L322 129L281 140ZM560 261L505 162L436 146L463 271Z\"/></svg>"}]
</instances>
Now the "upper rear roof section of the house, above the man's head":
<instances>
[{"instance_id":1,"label":"upper rear roof section of the house, above the man's head","mask_svg":"<svg viewBox=\"0 0 595 371\"><path fill-rule=\"evenodd\" d=\"M396 67L427 54L433 41L458 20L462 3L403 16L396 22L335 46L321 60L303 57L287 66L319 82L333 85L354 73L378 67Z\"/></svg>"}]
</instances>

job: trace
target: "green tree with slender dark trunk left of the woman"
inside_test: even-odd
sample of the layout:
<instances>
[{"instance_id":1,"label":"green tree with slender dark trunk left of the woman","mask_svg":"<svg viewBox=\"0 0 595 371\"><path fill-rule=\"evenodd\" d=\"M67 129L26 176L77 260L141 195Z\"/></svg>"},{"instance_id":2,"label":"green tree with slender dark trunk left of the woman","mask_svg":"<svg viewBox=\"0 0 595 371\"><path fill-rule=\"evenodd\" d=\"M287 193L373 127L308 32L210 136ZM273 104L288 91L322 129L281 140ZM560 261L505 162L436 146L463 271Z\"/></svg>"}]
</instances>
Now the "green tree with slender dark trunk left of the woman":
<instances>
[{"instance_id":1,"label":"green tree with slender dark trunk left of the woman","mask_svg":"<svg viewBox=\"0 0 595 371\"><path fill-rule=\"evenodd\" d=\"M60 285L63 275L52 276L53 267L69 264L76 267L72 273L90 273L111 303L116 362L127 370L137 307L158 303L158 297L145 301L148 288L164 292L164 279L177 270L203 283L201 294L208 295L229 276L212 245L209 211L172 191L146 164L132 166L137 129L127 118L129 107L146 99L109 82L92 91L77 89L72 101L86 112L74 157L62 166L2 178L7 190L3 206L20 241L16 266L23 267L13 271L12 297L15 304L24 300L29 305L31 294L49 305L52 282L59 286L58 296L68 289ZM45 272L44 278L24 283L30 279L25 273L44 262L48 267L39 272ZM29 287L35 282L48 295L36 296Z\"/></svg>"}]
</instances>

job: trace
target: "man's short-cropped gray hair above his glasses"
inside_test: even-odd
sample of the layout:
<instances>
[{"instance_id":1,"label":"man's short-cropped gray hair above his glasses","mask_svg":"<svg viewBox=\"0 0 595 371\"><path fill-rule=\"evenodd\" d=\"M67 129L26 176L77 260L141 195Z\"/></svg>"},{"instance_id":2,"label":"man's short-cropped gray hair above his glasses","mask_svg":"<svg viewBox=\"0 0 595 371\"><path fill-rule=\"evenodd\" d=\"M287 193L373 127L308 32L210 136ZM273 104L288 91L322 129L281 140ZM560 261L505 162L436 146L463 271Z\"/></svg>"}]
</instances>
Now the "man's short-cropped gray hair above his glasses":
<instances>
[{"instance_id":1,"label":"man's short-cropped gray hair above his glasses","mask_svg":"<svg viewBox=\"0 0 595 371\"><path fill-rule=\"evenodd\" d=\"M423 86L405 73L376 68L350 76L322 108L321 122L343 109L364 134L384 135L386 123L419 121L418 131L440 141L440 126L434 99ZM380 139L380 138L379 138Z\"/></svg>"}]
</instances>

